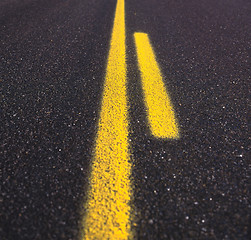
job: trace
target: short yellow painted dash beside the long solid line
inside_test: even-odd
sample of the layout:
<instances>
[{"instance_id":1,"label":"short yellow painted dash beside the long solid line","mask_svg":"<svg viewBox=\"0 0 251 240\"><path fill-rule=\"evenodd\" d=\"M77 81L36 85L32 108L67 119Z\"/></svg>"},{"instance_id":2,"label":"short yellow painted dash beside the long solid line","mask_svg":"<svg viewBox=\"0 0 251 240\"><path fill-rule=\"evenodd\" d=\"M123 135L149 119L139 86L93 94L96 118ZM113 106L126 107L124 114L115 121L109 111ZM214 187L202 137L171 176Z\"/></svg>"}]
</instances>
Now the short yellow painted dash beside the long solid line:
<instances>
[{"instance_id":1,"label":"short yellow painted dash beside the long solid line","mask_svg":"<svg viewBox=\"0 0 251 240\"><path fill-rule=\"evenodd\" d=\"M174 110L148 35L135 33L134 38L151 132L157 138L178 138Z\"/></svg>"}]
</instances>

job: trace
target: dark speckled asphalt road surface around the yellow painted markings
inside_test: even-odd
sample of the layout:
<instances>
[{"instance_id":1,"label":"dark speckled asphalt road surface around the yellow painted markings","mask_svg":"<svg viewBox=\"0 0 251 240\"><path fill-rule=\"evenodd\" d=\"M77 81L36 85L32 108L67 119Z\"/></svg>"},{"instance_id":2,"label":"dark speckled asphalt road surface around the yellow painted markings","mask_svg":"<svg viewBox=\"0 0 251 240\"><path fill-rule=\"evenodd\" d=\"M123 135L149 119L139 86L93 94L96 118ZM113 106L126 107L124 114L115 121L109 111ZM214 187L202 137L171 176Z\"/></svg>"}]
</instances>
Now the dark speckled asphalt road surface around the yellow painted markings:
<instances>
[{"instance_id":1,"label":"dark speckled asphalt road surface around the yellow painted markings","mask_svg":"<svg viewBox=\"0 0 251 240\"><path fill-rule=\"evenodd\" d=\"M248 0L126 0L136 239L249 239ZM78 239L115 0L0 2L0 239ZM180 139L151 136L134 32Z\"/></svg>"}]
</instances>

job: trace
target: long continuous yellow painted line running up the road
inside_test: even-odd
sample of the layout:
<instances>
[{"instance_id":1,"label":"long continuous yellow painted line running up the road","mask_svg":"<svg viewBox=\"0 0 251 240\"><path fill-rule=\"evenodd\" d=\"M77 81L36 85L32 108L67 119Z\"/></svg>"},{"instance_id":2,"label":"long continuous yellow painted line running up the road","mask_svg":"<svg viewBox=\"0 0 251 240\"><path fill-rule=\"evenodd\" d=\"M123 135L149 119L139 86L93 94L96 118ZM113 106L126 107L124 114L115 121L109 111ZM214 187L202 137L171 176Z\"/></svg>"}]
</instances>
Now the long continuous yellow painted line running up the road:
<instances>
[{"instance_id":1,"label":"long continuous yellow painted line running up the road","mask_svg":"<svg viewBox=\"0 0 251 240\"><path fill-rule=\"evenodd\" d=\"M84 239L128 239L131 235L125 52L124 0L118 0L86 204Z\"/></svg>"}]
</instances>

